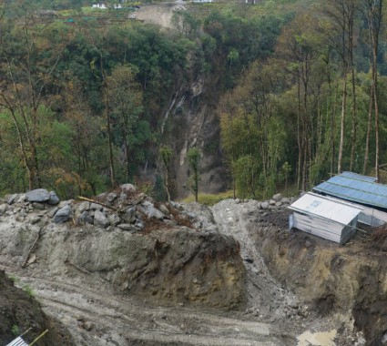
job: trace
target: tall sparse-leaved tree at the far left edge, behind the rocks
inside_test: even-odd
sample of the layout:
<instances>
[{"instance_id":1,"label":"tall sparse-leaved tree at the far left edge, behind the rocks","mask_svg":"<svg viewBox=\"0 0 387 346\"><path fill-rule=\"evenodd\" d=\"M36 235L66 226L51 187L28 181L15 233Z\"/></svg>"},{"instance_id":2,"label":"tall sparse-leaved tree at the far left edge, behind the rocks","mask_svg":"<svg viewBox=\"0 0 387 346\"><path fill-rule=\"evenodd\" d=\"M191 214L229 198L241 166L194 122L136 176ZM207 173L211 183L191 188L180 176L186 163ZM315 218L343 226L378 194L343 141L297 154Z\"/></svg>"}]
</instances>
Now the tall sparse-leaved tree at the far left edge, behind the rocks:
<instances>
[{"instance_id":1,"label":"tall sparse-leaved tree at the far left edge, behind the rocks","mask_svg":"<svg viewBox=\"0 0 387 346\"><path fill-rule=\"evenodd\" d=\"M48 27L37 26L27 6L24 19L7 25L0 48L2 80L0 106L13 119L21 158L28 175L28 188L41 185L38 142L40 140L39 111L48 105L47 88L53 82L54 71L66 47L69 36L62 32L55 40ZM21 22L23 20L23 22ZM67 37L66 37L67 36Z\"/></svg>"}]
</instances>

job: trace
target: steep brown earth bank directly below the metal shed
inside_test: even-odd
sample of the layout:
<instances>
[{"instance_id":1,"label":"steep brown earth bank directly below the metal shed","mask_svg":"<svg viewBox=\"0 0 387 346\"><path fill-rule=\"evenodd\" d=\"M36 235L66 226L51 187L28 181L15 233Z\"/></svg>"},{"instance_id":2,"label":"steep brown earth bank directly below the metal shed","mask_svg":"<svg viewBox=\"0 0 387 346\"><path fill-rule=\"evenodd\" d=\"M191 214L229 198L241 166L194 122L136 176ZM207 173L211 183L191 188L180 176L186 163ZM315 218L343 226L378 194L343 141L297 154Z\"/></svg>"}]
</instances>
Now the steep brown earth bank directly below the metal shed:
<instances>
[{"instance_id":1,"label":"steep brown earth bank directly below the metal shed","mask_svg":"<svg viewBox=\"0 0 387 346\"><path fill-rule=\"evenodd\" d=\"M360 235L341 247L301 231L290 234L283 228L288 214L271 215L266 226L251 225L250 234L270 271L321 314L340 313L343 321L352 320L367 345L385 344L385 254Z\"/></svg>"}]
</instances>

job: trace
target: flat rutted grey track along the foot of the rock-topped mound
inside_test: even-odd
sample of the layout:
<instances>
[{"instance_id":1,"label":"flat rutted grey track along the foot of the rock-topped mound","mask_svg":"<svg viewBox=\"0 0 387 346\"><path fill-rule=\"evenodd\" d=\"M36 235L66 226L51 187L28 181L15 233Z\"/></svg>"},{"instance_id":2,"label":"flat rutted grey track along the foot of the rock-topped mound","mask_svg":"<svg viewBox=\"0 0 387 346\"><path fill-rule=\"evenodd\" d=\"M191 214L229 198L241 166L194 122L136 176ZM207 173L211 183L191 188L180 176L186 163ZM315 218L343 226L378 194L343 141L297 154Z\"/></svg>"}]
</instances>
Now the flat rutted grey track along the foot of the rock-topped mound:
<instances>
[{"instance_id":1,"label":"flat rutted grey track along the foot of the rock-topped mound","mask_svg":"<svg viewBox=\"0 0 387 346\"><path fill-rule=\"evenodd\" d=\"M3 267L28 284L48 315L62 321L76 345L283 345L276 328L243 321L239 312L158 307L121 295L93 275L71 277ZM237 318L231 318L235 315Z\"/></svg>"}]
</instances>

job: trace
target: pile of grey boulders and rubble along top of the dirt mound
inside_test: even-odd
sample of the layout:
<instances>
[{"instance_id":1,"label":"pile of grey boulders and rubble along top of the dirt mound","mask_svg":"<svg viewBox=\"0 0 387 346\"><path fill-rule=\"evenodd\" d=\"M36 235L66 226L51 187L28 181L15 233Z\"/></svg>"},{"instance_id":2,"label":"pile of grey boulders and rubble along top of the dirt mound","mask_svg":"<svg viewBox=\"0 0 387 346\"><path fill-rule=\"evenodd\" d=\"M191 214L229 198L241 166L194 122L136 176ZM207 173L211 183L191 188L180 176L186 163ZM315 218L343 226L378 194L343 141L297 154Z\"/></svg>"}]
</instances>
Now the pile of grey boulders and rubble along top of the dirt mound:
<instances>
[{"instance_id":1,"label":"pile of grey boulders and rubble along top of the dirt mound","mask_svg":"<svg viewBox=\"0 0 387 346\"><path fill-rule=\"evenodd\" d=\"M60 201L54 191L37 188L5 197L0 204L2 215L15 215L18 221L29 220L32 224L73 221L78 226L94 225L106 230L117 228L130 232L146 229L149 221L170 226L183 224L194 229L214 228L208 218L200 218L176 202L155 203L131 184L121 185L116 191L100 194L95 199L83 198L81 201Z\"/></svg>"}]
</instances>

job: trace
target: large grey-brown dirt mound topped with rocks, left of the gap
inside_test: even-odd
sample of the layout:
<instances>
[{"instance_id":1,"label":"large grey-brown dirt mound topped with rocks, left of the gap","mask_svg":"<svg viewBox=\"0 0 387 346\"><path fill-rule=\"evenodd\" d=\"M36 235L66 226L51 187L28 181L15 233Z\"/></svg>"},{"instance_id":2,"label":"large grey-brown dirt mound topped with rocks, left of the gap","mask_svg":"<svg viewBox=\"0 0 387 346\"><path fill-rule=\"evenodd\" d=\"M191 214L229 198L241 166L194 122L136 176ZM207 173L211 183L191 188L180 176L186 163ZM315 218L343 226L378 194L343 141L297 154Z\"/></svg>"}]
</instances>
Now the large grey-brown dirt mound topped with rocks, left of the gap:
<instances>
[{"instance_id":1,"label":"large grey-brown dirt mound topped with rocks, left of the gap","mask_svg":"<svg viewBox=\"0 0 387 346\"><path fill-rule=\"evenodd\" d=\"M219 233L210 212L199 217L176 203L154 203L129 184L58 207L17 200L0 217L0 246L22 267L96 274L118 290L168 304L231 309L245 300L239 244Z\"/></svg>"}]
</instances>

